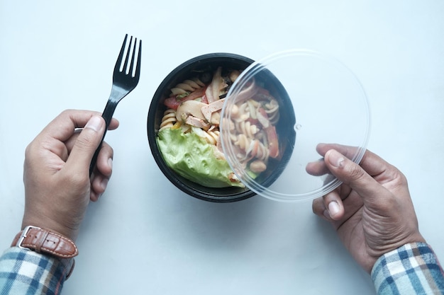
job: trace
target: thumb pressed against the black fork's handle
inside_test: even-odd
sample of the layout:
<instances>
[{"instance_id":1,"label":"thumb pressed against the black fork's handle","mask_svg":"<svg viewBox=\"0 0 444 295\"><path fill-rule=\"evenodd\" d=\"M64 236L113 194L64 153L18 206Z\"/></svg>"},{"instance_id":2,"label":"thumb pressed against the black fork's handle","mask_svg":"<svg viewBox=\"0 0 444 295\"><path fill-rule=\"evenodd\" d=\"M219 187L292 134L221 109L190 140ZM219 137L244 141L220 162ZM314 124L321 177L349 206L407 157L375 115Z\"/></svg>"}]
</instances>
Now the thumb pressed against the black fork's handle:
<instances>
[{"instance_id":1,"label":"thumb pressed against the black fork's handle","mask_svg":"<svg viewBox=\"0 0 444 295\"><path fill-rule=\"evenodd\" d=\"M105 121L102 117L93 116L89 119L74 142L70 157L67 160L67 166L71 170L82 173L89 169L92 156L100 145L104 131Z\"/></svg>"}]
</instances>

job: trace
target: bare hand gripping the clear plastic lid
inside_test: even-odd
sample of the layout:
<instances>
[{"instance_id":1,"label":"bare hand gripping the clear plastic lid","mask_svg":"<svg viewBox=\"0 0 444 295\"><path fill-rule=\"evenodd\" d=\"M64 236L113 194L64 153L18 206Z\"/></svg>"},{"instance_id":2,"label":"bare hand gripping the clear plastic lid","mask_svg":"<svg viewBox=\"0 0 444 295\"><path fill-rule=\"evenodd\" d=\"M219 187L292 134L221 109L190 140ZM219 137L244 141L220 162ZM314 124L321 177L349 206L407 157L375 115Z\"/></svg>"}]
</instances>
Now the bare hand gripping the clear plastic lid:
<instances>
[{"instance_id":1,"label":"bare hand gripping the clear plastic lid","mask_svg":"<svg viewBox=\"0 0 444 295\"><path fill-rule=\"evenodd\" d=\"M324 161L310 163L313 175L327 168L343 182L313 200L313 212L331 222L355 260L371 272L376 260L406 243L424 242L405 176L366 151L360 165L347 158L348 146L319 144ZM342 153L342 154L341 154Z\"/></svg>"}]
</instances>

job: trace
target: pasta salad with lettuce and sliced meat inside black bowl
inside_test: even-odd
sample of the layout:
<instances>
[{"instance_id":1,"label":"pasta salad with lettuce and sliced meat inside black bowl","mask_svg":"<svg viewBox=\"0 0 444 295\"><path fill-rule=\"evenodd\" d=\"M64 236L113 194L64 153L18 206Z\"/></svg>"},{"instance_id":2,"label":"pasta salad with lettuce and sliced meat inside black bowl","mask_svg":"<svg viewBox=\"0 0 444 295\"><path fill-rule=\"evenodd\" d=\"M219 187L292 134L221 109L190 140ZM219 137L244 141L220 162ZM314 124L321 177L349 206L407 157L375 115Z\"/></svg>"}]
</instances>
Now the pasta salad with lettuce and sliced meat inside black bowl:
<instances>
[{"instance_id":1,"label":"pasta salad with lettuce and sliced meat inside black bowl","mask_svg":"<svg viewBox=\"0 0 444 295\"><path fill-rule=\"evenodd\" d=\"M167 166L176 173L206 187L244 187L231 170L219 141L219 127L233 130L231 143L243 168L252 178L267 169L270 158L278 158L279 141L275 125L279 105L270 93L254 81L240 93L231 110L231 120L221 122L221 110L238 69L196 73L171 88L165 100L157 146Z\"/></svg>"}]
</instances>

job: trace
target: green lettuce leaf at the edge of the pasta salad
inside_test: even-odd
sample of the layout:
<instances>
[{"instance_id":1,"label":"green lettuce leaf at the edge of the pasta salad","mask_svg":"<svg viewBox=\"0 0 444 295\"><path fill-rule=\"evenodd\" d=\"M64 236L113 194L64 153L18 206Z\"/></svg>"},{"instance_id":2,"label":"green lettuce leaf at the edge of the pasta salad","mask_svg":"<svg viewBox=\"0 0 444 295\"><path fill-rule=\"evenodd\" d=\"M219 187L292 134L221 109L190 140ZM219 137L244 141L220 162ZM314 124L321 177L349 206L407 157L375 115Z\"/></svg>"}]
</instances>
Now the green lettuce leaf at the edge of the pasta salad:
<instances>
[{"instance_id":1,"label":"green lettuce leaf at the edge of the pasta salad","mask_svg":"<svg viewBox=\"0 0 444 295\"><path fill-rule=\"evenodd\" d=\"M182 129L162 129L157 134L157 146L167 163L177 174L206 187L244 187L232 182L233 173L226 160L213 154L214 146L194 132L183 133Z\"/></svg>"}]
</instances>

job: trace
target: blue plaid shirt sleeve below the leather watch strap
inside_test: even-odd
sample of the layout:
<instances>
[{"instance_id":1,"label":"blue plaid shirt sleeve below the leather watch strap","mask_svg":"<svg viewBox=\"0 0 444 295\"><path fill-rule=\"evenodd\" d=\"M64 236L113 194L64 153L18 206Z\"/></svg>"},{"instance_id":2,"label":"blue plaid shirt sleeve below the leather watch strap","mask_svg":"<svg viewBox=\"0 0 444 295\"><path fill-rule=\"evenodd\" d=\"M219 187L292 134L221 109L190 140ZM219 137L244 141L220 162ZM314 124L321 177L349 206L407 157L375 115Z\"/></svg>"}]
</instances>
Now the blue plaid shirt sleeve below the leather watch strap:
<instances>
[{"instance_id":1,"label":"blue plaid shirt sleeve below the leather watch strap","mask_svg":"<svg viewBox=\"0 0 444 295\"><path fill-rule=\"evenodd\" d=\"M0 256L0 294L60 294L67 268L57 258L11 247Z\"/></svg>"}]
</instances>

